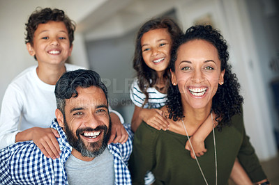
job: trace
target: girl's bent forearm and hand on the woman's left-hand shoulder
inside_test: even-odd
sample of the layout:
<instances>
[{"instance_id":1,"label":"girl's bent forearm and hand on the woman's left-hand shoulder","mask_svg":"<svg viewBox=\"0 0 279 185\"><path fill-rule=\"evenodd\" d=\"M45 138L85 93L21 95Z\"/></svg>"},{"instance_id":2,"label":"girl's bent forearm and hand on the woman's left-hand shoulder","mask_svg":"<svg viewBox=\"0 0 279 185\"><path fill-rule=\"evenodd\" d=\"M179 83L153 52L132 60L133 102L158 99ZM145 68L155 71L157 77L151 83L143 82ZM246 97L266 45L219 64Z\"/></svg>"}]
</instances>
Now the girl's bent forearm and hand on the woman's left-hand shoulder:
<instances>
[{"instance_id":1,"label":"girl's bent forearm and hand on the woman's left-hand shoulder","mask_svg":"<svg viewBox=\"0 0 279 185\"><path fill-rule=\"evenodd\" d=\"M167 130L169 128L169 122L167 122L167 119L163 115L163 111L161 111L160 109L140 108L139 106L135 106L131 123L131 128L134 133L137 130L137 127L140 126L142 121L158 130Z\"/></svg>"}]
</instances>

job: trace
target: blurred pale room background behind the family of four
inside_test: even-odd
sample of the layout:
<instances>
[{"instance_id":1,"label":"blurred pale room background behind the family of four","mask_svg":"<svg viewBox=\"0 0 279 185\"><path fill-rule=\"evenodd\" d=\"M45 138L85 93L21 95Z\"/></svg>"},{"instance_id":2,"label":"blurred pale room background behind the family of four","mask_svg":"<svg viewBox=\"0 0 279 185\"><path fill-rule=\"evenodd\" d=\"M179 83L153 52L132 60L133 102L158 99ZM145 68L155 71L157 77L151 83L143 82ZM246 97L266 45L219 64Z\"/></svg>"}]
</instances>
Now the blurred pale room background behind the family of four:
<instances>
[{"instance_id":1,"label":"blurred pale room background behind the family of four","mask_svg":"<svg viewBox=\"0 0 279 185\"><path fill-rule=\"evenodd\" d=\"M76 22L68 62L100 74L110 105L126 122L134 110L129 88L140 26L161 15L176 19L183 31L193 24L212 24L229 44L229 61L245 102L246 131L259 159L278 154L278 0L0 0L0 102L8 83L36 65L24 44L24 24L38 6L63 9Z\"/></svg>"}]
</instances>

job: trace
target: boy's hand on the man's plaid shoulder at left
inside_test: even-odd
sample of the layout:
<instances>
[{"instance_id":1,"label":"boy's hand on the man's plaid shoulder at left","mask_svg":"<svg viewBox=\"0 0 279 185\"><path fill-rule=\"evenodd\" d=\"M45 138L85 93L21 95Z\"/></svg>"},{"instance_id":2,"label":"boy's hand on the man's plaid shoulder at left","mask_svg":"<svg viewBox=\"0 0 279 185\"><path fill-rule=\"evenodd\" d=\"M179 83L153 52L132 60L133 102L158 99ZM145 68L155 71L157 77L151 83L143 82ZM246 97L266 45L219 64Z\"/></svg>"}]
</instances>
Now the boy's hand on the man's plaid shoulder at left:
<instances>
[{"instance_id":1,"label":"boy's hand on the man's plaid shoulder at left","mask_svg":"<svg viewBox=\"0 0 279 185\"><path fill-rule=\"evenodd\" d=\"M47 158L59 158L59 153L61 153L61 151L59 143L56 140L56 138L59 137L56 129L33 127L32 140Z\"/></svg>"}]
</instances>

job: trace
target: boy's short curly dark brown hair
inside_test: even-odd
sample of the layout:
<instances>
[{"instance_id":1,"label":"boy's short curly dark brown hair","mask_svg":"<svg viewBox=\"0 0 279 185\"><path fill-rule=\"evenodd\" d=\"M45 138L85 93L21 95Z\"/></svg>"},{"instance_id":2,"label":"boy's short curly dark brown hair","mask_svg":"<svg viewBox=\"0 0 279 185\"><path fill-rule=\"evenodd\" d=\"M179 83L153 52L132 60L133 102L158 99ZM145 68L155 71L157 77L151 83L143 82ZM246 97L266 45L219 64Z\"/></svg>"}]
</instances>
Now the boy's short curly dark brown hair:
<instances>
[{"instance_id":1,"label":"boy's short curly dark brown hair","mask_svg":"<svg viewBox=\"0 0 279 185\"><path fill-rule=\"evenodd\" d=\"M29 42L31 46L33 46L33 37L38 25L50 21L63 22L65 24L71 47L74 40L75 22L65 15L63 10L56 8L36 8L36 10L30 15L28 22L25 24L25 44Z\"/></svg>"}]
</instances>

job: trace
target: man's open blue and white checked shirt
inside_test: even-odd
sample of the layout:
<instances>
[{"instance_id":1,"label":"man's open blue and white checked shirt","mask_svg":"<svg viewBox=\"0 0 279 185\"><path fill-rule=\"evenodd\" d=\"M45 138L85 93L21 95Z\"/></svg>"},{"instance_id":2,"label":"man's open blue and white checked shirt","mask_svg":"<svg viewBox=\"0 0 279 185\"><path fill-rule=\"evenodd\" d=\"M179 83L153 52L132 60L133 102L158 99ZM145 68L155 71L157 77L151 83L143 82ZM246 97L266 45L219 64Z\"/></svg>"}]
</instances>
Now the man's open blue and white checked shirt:
<instances>
[{"instance_id":1,"label":"man's open blue and white checked shirt","mask_svg":"<svg viewBox=\"0 0 279 185\"><path fill-rule=\"evenodd\" d=\"M56 129L61 154L59 159L47 158L33 141L15 143L0 150L0 184L68 184L65 163L72 147L59 124L52 121ZM133 133L124 124L129 138L123 145L110 144L108 149L114 156L115 184L131 184L128 160L133 149Z\"/></svg>"}]
</instances>

